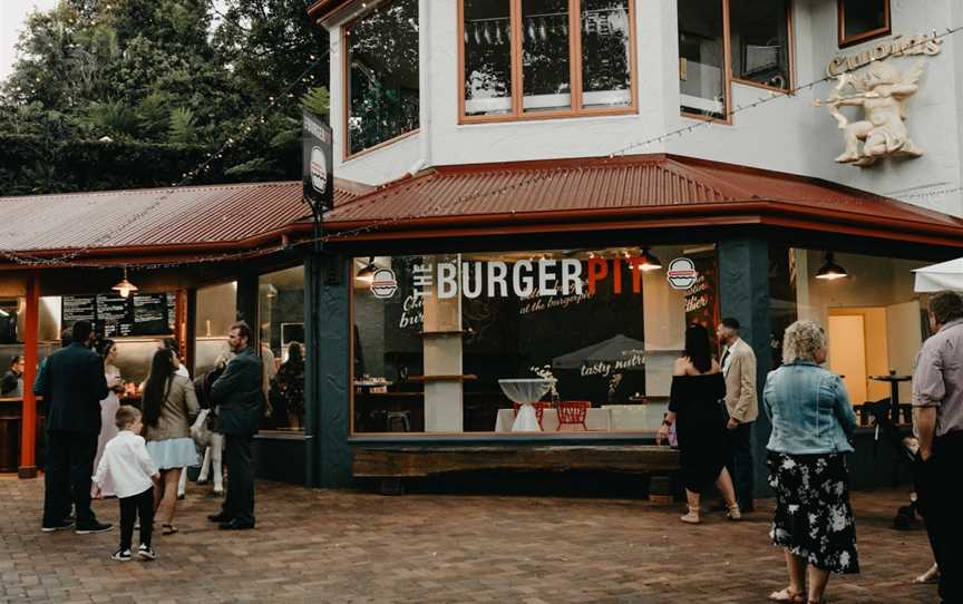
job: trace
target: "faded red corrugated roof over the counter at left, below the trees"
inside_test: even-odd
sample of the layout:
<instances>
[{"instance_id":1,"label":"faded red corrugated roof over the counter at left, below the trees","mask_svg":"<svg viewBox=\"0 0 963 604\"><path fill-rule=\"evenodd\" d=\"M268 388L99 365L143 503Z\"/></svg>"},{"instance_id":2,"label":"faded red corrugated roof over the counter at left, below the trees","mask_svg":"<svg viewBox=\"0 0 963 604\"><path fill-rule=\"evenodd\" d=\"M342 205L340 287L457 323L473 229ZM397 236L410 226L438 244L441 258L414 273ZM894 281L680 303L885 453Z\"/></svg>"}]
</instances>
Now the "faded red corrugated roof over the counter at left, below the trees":
<instances>
[{"instance_id":1,"label":"faded red corrugated roof over the counter at left, below the trees","mask_svg":"<svg viewBox=\"0 0 963 604\"><path fill-rule=\"evenodd\" d=\"M335 179L335 207L371 187ZM0 197L4 252L257 245L310 216L301 181Z\"/></svg>"}]
</instances>

